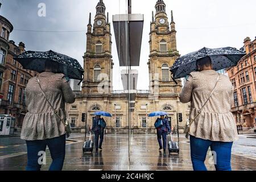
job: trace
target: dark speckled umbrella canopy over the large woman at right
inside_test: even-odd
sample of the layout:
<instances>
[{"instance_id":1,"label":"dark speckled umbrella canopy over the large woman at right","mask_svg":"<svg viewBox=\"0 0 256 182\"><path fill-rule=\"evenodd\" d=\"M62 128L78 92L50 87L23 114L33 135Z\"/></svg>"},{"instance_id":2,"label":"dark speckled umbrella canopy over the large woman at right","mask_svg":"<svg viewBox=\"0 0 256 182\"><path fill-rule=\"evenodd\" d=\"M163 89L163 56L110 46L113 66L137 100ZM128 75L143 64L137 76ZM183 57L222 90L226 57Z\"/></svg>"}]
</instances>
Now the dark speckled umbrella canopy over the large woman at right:
<instances>
[{"instance_id":1,"label":"dark speckled umbrella canopy over the large woman at right","mask_svg":"<svg viewBox=\"0 0 256 182\"><path fill-rule=\"evenodd\" d=\"M170 71L174 75L174 79L186 77L189 73L196 71L196 61L206 57L210 57L212 60L213 69L219 71L236 66L238 61L245 55L244 52L232 47L214 49L204 47L199 51L179 57Z\"/></svg>"}]
</instances>

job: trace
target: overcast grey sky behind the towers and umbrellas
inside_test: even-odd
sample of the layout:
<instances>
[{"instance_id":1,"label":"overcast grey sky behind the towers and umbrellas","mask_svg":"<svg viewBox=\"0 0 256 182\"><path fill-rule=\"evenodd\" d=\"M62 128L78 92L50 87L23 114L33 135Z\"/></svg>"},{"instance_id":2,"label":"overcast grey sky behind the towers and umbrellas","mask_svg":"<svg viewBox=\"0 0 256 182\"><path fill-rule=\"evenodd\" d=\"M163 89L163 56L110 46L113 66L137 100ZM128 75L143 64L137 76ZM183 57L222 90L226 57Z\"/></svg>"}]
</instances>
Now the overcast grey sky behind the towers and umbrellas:
<instances>
[{"instance_id":1,"label":"overcast grey sky behind the towers and umbrellas","mask_svg":"<svg viewBox=\"0 0 256 182\"><path fill-rule=\"evenodd\" d=\"M148 89L148 55L151 11L157 0L132 0L132 13L144 14L144 30L138 89ZM26 50L53 51L71 56L83 65L86 50L86 26L89 12L94 17L98 0L0 0L0 14L14 26L10 40L24 42ZM202 47L243 46L243 39L256 36L255 0L165 0L166 11L177 30L177 49L181 55ZM38 16L39 3L46 4L46 17ZM126 0L104 0L106 11L112 15L126 13ZM114 60L114 89L122 89L117 48L112 28ZM33 31L20 31L33 30ZM40 32L46 31L46 32ZM51 32L55 31L55 32ZM56 32L57 31L57 32ZM68 31L68 32L63 32Z\"/></svg>"}]
</instances>

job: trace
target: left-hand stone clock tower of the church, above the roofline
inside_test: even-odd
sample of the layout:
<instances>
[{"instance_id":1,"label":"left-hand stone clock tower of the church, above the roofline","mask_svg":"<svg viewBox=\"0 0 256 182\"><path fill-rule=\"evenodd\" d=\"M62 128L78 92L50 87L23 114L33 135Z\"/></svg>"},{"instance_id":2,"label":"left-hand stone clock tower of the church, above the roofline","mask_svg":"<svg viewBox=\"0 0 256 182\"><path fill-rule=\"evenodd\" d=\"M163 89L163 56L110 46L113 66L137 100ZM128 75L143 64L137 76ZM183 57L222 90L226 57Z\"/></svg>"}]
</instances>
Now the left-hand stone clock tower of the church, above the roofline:
<instances>
[{"instance_id":1,"label":"left-hand stone clock tower of the church, above the roofline","mask_svg":"<svg viewBox=\"0 0 256 182\"><path fill-rule=\"evenodd\" d=\"M96 6L96 16L92 25L89 15L84 54L84 81L82 94L110 94L112 92L112 40L109 13L106 16L103 0Z\"/></svg>"}]
</instances>

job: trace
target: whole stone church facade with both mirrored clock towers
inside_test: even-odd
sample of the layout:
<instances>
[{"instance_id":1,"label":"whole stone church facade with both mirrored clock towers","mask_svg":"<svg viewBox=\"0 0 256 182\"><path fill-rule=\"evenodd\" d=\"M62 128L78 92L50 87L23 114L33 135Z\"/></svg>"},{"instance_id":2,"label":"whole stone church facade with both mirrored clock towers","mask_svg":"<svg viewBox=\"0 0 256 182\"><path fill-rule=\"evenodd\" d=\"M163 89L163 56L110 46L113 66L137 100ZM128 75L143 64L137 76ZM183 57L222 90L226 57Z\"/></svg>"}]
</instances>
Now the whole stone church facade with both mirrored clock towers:
<instances>
[{"instance_id":1,"label":"whole stone church facade with both mirrored clock towers","mask_svg":"<svg viewBox=\"0 0 256 182\"><path fill-rule=\"evenodd\" d=\"M113 115L106 118L106 133L135 134L155 133L155 119L147 117L152 111L166 111L172 127L177 129L177 113L183 114L183 129L189 115L189 104L181 104L178 94L182 84L176 85L171 80L169 68L179 57L176 47L175 22L171 12L171 23L168 22L166 5L158 0L156 13L152 12L150 31L150 56L148 71L150 73L149 89L137 90L135 107L129 110L127 94L122 90L113 90L112 33L109 14L105 13L103 1L96 6L96 16L89 24L86 52L84 54L84 81L82 91L76 92L74 104L67 105L67 117L73 130L84 132L85 123L81 122L82 113L86 114L87 127L92 126L95 111L107 111ZM93 24L92 24L93 23Z\"/></svg>"}]
</instances>

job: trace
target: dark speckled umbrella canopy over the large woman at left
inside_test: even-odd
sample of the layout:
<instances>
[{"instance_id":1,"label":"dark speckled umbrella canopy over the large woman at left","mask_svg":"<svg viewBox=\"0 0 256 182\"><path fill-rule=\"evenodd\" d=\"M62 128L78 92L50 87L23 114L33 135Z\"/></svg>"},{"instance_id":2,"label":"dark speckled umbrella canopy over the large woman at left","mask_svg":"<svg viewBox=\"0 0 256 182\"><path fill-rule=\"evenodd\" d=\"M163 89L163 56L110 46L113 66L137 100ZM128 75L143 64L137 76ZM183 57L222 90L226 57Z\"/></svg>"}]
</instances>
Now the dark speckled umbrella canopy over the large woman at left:
<instances>
[{"instance_id":1,"label":"dark speckled umbrella canopy over the large woman at left","mask_svg":"<svg viewBox=\"0 0 256 182\"><path fill-rule=\"evenodd\" d=\"M62 55L54 51L38 52L26 51L14 57L24 69L30 69L39 73L44 72L46 60L59 63L59 73L63 73L71 79L82 80L84 69L76 59Z\"/></svg>"}]
</instances>

